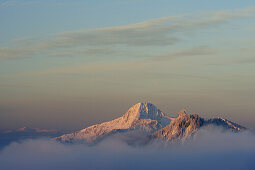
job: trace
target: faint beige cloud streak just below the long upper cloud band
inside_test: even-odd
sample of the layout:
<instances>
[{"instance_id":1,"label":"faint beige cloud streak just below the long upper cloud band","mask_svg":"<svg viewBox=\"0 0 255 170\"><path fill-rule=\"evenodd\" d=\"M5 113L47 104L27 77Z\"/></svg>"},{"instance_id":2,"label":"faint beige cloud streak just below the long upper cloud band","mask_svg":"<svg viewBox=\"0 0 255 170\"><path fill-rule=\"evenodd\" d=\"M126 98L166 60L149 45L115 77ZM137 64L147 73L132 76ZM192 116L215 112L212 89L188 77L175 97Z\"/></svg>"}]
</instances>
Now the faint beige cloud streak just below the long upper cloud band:
<instances>
[{"instance_id":1,"label":"faint beige cloud streak just below the long upper cloud band","mask_svg":"<svg viewBox=\"0 0 255 170\"><path fill-rule=\"evenodd\" d=\"M155 62L171 60L174 58L188 56L207 56L215 54L215 49L209 47L196 47L186 50L177 50L166 55L151 55L146 59L136 59L130 61L110 61L110 62L93 62L87 64L76 64L72 66L58 66L51 69L41 70L31 73L32 75L52 75L52 74L84 74L84 73L102 73L112 71L149 71L155 67ZM64 55L64 54L62 54ZM161 68L164 67L160 64ZM168 67L168 66L167 66ZM28 73L27 73L28 74ZM152 74L150 72L150 74Z\"/></svg>"}]
</instances>

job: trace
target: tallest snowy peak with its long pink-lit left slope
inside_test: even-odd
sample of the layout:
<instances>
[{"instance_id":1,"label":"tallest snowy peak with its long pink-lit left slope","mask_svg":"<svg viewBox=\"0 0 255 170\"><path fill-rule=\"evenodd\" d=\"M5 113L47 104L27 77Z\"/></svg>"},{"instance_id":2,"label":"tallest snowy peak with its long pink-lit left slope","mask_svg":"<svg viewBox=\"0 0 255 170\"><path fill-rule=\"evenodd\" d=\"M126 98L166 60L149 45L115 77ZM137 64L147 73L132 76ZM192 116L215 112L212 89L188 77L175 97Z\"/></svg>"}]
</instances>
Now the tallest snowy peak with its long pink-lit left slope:
<instances>
[{"instance_id":1,"label":"tallest snowy peak with its long pink-lit left slope","mask_svg":"<svg viewBox=\"0 0 255 170\"><path fill-rule=\"evenodd\" d=\"M80 131L57 137L59 142L85 142L94 143L117 132L127 132L141 129L148 134L164 128L171 118L164 115L151 103L137 103L123 116L109 122L93 125Z\"/></svg>"}]
</instances>

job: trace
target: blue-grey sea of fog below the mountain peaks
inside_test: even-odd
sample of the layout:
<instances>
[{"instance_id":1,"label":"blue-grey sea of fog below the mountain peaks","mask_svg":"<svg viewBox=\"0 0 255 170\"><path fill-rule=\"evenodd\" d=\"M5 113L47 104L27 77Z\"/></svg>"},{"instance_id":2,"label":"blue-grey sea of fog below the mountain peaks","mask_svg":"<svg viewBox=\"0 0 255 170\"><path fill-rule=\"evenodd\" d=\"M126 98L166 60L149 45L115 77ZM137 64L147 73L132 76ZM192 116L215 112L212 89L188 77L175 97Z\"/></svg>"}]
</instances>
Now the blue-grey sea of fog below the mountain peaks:
<instances>
[{"instance_id":1,"label":"blue-grey sea of fog below the mountain peaks","mask_svg":"<svg viewBox=\"0 0 255 170\"><path fill-rule=\"evenodd\" d=\"M24 140L0 150L1 170L255 169L255 135L201 129L184 143L129 145L127 137L94 146Z\"/></svg>"}]
</instances>

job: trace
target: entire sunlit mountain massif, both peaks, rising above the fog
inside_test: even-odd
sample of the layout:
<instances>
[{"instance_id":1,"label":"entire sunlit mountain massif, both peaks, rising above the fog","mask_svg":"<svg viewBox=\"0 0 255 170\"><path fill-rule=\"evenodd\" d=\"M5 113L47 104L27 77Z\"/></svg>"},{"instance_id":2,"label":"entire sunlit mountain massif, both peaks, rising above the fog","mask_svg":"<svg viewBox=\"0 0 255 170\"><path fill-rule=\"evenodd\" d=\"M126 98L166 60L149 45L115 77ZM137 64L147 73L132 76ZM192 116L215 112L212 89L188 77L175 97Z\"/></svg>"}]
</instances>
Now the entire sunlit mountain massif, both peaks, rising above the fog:
<instances>
[{"instance_id":1,"label":"entire sunlit mountain massif, both peaks, rising above the fog","mask_svg":"<svg viewBox=\"0 0 255 170\"><path fill-rule=\"evenodd\" d=\"M165 116L151 103L137 103L123 116L55 138L62 143L96 143L117 133L142 132L147 139L185 140L204 126L218 126L232 132L246 128L222 118L204 119L181 110L176 118ZM133 139L135 140L135 139Z\"/></svg>"}]
</instances>

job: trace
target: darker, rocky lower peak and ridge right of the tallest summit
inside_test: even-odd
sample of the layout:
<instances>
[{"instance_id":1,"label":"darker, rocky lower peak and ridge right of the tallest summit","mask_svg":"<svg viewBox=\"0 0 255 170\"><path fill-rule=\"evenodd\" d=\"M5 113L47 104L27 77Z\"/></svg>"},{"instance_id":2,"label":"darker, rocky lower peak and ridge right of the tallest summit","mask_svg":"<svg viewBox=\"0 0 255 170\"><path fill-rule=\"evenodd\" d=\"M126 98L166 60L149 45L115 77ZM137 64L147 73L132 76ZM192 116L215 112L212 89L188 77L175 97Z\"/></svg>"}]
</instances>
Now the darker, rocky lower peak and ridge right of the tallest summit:
<instances>
[{"instance_id":1,"label":"darker, rocky lower peak and ridge right of the tallest summit","mask_svg":"<svg viewBox=\"0 0 255 170\"><path fill-rule=\"evenodd\" d=\"M167 141L175 139L185 140L195 134L199 128L205 126L218 126L223 130L239 132L246 128L222 118L203 119L197 114L188 114L185 110L179 112L168 126L151 135L152 138L163 138Z\"/></svg>"}]
</instances>

